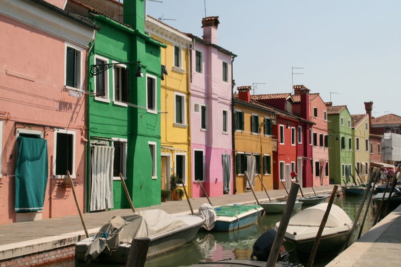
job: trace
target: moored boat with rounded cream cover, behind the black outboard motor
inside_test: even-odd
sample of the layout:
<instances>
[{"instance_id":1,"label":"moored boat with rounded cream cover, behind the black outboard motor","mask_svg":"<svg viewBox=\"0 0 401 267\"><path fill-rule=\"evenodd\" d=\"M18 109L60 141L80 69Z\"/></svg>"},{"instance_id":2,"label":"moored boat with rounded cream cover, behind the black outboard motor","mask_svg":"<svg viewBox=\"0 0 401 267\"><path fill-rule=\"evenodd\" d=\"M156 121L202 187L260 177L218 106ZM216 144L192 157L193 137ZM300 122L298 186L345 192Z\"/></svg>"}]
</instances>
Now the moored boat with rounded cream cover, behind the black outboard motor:
<instances>
[{"instance_id":1,"label":"moored boat with rounded cream cover, behind the black outboard motor","mask_svg":"<svg viewBox=\"0 0 401 267\"><path fill-rule=\"evenodd\" d=\"M328 203L320 203L296 213L291 217L285 233L287 250L295 247L299 253L310 253L317 231ZM280 222L276 223L276 229ZM353 222L337 205L332 205L323 229L317 254L335 255L340 253L348 240Z\"/></svg>"}]
</instances>

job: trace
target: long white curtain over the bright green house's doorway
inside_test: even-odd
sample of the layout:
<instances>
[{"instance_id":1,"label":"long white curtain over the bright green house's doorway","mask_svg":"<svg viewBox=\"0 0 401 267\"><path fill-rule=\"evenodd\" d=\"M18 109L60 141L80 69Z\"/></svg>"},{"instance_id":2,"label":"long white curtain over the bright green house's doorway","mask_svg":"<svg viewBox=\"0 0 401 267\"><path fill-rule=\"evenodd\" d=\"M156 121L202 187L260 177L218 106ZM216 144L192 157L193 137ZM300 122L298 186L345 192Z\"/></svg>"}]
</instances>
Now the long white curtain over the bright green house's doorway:
<instances>
[{"instance_id":1,"label":"long white curtain over the bright green house's doorway","mask_svg":"<svg viewBox=\"0 0 401 267\"><path fill-rule=\"evenodd\" d=\"M114 147L95 146L92 148L91 211L114 207L113 163Z\"/></svg>"}]
</instances>

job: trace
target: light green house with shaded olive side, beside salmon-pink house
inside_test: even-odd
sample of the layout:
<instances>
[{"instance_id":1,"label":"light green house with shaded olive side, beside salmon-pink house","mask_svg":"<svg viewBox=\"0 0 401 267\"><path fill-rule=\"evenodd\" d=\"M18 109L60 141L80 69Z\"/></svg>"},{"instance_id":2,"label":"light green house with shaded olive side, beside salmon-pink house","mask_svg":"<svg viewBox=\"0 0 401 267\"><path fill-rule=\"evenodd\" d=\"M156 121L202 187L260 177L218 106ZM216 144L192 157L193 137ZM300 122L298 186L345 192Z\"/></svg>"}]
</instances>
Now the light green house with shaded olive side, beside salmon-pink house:
<instances>
[{"instance_id":1,"label":"light green house with shaded olive side, beside salmon-pink house","mask_svg":"<svg viewBox=\"0 0 401 267\"><path fill-rule=\"evenodd\" d=\"M349 184L353 182L354 173L352 151L352 122L346 105L334 106L326 103L328 114L328 145L330 161L330 182L335 184Z\"/></svg>"}]
</instances>

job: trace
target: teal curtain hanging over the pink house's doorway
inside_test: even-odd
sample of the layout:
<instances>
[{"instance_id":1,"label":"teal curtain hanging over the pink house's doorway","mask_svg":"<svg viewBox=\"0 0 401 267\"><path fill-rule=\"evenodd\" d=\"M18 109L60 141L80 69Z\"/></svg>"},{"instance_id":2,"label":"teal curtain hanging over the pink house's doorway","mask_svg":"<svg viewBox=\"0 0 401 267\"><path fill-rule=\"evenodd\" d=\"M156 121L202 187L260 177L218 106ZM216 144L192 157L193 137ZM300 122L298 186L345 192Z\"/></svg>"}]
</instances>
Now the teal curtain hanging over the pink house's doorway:
<instances>
[{"instance_id":1,"label":"teal curtain hanging over the pink house's doorway","mask_svg":"<svg viewBox=\"0 0 401 267\"><path fill-rule=\"evenodd\" d=\"M42 211L48 179L47 140L20 134L17 149L15 212Z\"/></svg>"}]
</instances>

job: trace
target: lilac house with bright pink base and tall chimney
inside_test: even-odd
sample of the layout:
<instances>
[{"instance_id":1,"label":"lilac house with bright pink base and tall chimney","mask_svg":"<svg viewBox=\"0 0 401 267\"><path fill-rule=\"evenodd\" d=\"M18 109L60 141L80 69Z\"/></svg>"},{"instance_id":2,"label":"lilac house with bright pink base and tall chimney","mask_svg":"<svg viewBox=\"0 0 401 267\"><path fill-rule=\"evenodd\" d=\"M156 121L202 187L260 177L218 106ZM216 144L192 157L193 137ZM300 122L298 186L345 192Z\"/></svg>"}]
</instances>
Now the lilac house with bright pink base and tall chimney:
<instances>
[{"instance_id":1,"label":"lilac house with bright pink base and tall chimney","mask_svg":"<svg viewBox=\"0 0 401 267\"><path fill-rule=\"evenodd\" d=\"M232 61L236 56L217 44L219 17L202 19L203 38L188 34L191 47L192 197L233 193Z\"/></svg>"}]
</instances>

